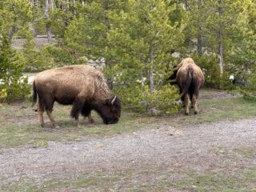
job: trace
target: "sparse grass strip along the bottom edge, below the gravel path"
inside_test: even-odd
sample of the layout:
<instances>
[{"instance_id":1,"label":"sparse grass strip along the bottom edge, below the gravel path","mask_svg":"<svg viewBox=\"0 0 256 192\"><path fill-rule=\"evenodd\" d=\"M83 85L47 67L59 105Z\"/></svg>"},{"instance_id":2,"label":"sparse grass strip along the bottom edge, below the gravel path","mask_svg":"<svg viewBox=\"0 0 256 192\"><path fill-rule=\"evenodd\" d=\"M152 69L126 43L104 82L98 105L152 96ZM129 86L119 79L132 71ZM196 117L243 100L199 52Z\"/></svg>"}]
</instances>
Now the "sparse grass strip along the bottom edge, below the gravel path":
<instances>
[{"instance_id":1,"label":"sparse grass strip along the bottom edge, below the gravel path","mask_svg":"<svg viewBox=\"0 0 256 192\"><path fill-rule=\"evenodd\" d=\"M42 183L13 182L2 186L3 191L256 191L256 167L236 168L232 174L225 170L208 171L174 170L160 167L124 170L97 170L86 172L78 178L50 179Z\"/></svg>"}]
</instances>

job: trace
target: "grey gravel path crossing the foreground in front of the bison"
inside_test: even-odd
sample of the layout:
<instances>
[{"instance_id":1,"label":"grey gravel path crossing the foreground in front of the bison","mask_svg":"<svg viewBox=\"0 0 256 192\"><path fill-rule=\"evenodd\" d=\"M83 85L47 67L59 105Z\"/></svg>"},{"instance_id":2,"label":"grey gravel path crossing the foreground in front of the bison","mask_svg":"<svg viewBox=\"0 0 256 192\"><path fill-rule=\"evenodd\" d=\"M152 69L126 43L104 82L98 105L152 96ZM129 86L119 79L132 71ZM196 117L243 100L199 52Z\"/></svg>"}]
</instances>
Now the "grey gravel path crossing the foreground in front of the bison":
<instances>
[{"instance_id":1,"label":"grey gravel path crossing the foreground in front of the bison","mask_svg":"<svg viewBox=\"0 0 256 192\"><path fill-rule=\"evenodd\" d=\"M207 91L201 95L202 98L233 97L219 91L211 92L211 96ZM0 149L0 186L26 178L40 184L49 179L77 178L85 170L111 172L127 167L133 170L158 167L162 174L171 170L174 178L180 170L190 169L202 174L209 170L232 174L233 170L256 166L255 156L236 155L235 161L232 158L235 150L255 149L255 127L256 118L186 127L163 123L131 134L85 137L79 142L48 142L48 146L39 148ZM159 175L138 177L134 179L150 178L154 182ZM118 182L114 191L126 191L126 188Z\"/></svg>"}]
</instances>

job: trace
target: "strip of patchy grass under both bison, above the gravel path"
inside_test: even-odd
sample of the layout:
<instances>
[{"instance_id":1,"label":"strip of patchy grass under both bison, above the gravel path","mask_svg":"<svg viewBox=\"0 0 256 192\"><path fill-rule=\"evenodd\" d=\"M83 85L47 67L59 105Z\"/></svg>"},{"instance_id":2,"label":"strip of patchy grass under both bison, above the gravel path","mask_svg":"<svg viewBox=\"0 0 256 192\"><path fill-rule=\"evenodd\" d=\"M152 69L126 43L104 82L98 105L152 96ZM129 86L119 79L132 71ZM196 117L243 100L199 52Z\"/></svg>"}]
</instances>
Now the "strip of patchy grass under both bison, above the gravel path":
<instances>
[{"instance_id":1,"label":"strip of patchy grass under both bison, above the gravel path","mask_svg":"<svg viewBox=\"0 0 256 192\"><path fill-rule=\"evenodd\" d=\"M0 148L32 145L34 147L47 146L48 141L80 141L82 137L104 137L114 134L131 133L142 129L153 129L159 124L171 126L188 126L203 122L217 122L221 120L238 120L256 116L256 102L243 98L202 99L199 101L198 115L190 112L183 114L149 117L146 115L122 112L122 118L117 124L104 125L98 114L92 114L95 122L89 124L84 119L80 127L74 126L70 119L70 106L55 105L54 118L60 129L52 129L46 119L46 127L38 125L38 115L31 110L29 102L13 103L0 106Z\"/></svg>"}]
</instances>

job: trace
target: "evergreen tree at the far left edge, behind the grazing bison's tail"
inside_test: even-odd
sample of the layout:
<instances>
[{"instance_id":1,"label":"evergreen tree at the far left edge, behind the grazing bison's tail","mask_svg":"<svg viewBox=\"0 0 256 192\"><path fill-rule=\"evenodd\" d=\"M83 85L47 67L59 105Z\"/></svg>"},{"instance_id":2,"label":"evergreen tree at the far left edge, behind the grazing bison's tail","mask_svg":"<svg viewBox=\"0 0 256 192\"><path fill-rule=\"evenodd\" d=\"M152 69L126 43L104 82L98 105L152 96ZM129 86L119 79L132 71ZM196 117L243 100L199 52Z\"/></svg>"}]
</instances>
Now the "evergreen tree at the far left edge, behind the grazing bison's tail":
<instances>
[{"instance_id":1,"label":"evergreen tree at the far left edge, behind the grazing bison's tail","mask_svg":"<svg viewBox=\"0 0 256 192\"><path fill-rule=\"evenodd\" d=\"M26 78L22 78L26 62L20 51L11 49L11 42L29 29L30 8L26 0L0 2L0 91L6 92L7 99L24 98L28 93Z\"/></svg>"}]
</instances>

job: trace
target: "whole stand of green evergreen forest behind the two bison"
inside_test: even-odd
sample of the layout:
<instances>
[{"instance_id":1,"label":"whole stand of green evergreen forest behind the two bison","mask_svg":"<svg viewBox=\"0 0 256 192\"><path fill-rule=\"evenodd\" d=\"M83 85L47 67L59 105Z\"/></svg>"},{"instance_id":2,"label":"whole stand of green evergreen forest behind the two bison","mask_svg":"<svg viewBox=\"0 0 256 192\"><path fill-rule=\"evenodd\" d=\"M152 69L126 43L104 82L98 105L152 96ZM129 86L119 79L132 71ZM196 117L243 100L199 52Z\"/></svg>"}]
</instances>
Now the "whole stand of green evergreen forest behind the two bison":
<instances>
[{"instance_id":1,"label":"whole stand of green evergreen forest behind the two bison","mask_svg":"<svg viewBox=\"0 0 256 192\"><path fill-rule=\"evenodd\" d=\"M178 90L166 79L186 57L206 87L254 99L255 51L254 0L2 0L0 102L29 98L25 73L94 61L126 107L172 113Z\"/></svg>"}]
</instances>

